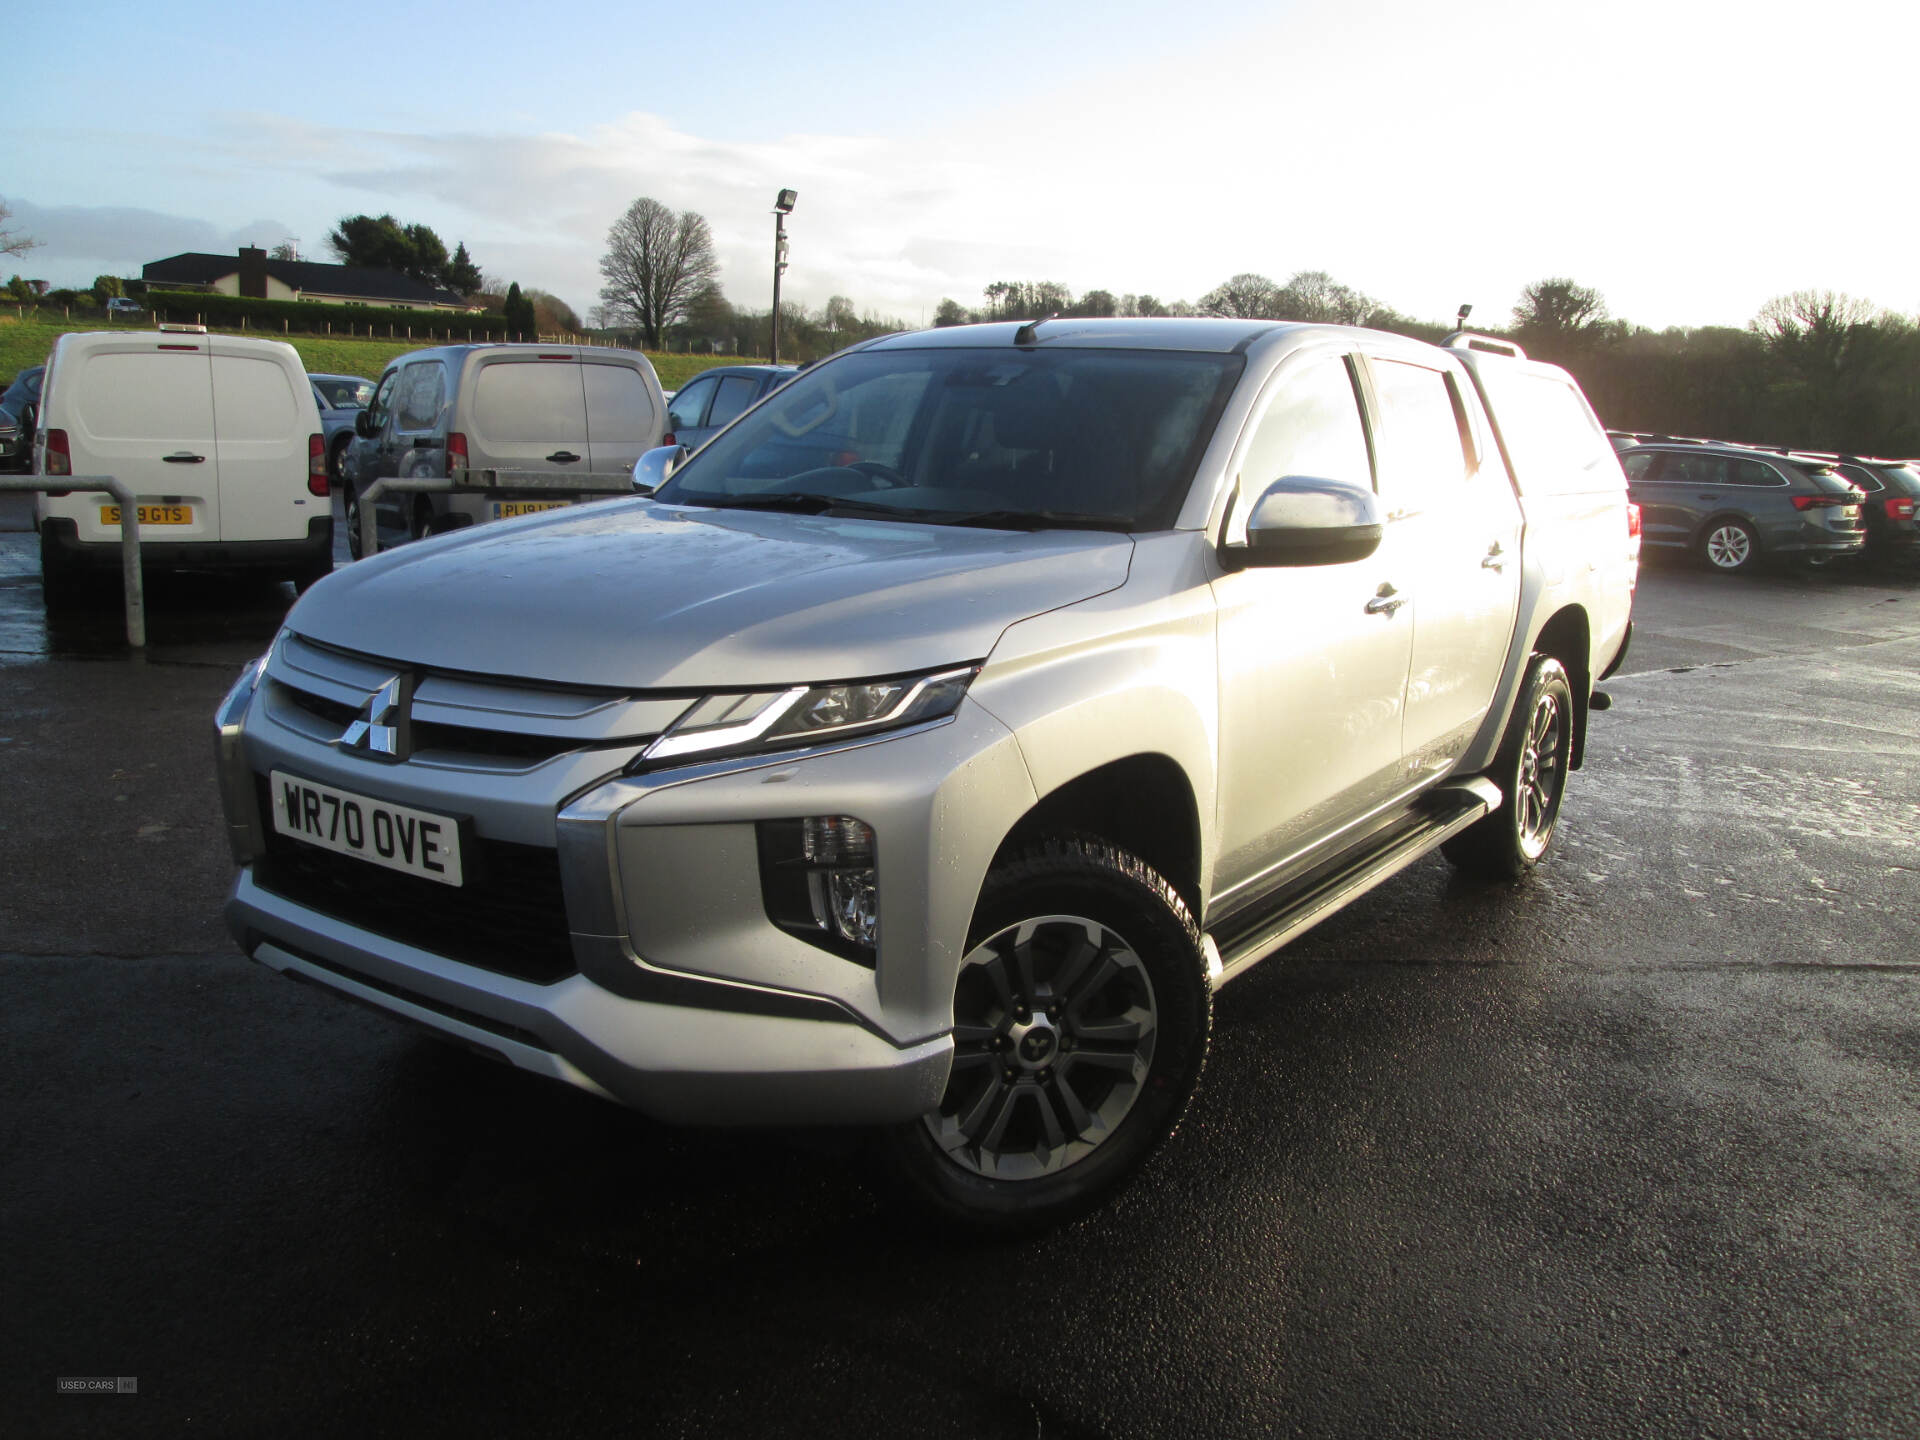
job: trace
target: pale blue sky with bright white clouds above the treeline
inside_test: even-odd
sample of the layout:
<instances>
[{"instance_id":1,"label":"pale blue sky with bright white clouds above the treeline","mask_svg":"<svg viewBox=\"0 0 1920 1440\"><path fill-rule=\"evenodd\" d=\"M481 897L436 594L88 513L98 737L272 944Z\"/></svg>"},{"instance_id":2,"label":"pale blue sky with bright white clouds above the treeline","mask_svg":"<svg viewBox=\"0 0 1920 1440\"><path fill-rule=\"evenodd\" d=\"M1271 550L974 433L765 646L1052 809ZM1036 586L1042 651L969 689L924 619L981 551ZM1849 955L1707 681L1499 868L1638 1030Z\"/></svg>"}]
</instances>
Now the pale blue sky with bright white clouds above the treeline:
<instances>
[{"instance_id":1,"label":"pale blue sky with bright white clouds above the treeline","mask_svg":"<svg viewBox=\"0 0 1920 1440\"><path fill-rule=\"evenodd\" d=\"M1772 296L1920 309L1920 8L1611 0L27 6L0 200L86 286L394 213L582 315L637 198L735 305L931 323L1058 280L1198 300L1327 271L1503 323L1546 276L1653 328ZM1880 63L1885 58L1887 63Z\"/></svg>"}]
</instances>

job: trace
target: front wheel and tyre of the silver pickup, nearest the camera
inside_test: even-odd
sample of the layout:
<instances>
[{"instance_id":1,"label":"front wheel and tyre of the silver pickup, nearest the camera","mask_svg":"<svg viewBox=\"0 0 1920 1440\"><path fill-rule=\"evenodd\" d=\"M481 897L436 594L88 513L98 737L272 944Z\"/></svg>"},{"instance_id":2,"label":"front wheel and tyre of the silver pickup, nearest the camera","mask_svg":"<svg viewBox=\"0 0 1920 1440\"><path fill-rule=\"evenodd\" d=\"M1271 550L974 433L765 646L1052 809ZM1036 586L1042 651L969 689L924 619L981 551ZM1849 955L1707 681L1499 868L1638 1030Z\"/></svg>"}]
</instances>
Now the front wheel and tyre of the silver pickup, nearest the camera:
<instances>
[{"instance_id":1,"label":"front wheel and tyre of the silver pickup, nearest the camera","mask_svg":"<svg viewBox=\"0 0 1920 1440\"><path fill-rule=\"evenodd\" d=\"M1073 1219L1179 1125L1212 1029L1200 929L1173 885L1094 837L1033 843L981 887L952 1077L939 1110L885 1135L889 1167L972 1231Z\"/></svg>"}]
</instances>

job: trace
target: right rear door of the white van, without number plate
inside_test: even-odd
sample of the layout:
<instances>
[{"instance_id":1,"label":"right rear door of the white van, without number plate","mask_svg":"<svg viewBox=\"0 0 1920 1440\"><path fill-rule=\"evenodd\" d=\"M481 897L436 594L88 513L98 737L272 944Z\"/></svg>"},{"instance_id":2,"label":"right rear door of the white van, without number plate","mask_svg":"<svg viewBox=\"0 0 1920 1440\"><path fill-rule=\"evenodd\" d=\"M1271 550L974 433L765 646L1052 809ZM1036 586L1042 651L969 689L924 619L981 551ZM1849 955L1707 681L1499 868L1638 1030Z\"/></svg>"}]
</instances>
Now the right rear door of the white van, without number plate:
<instances>
[{"instance_id":1,"label":"right rear door of the white van, without number plate","mask_svg":"<svg viewBox=\"0 0 1920 1440\"><path fill-rule=\"evenodd\" d=\"M257 340L209 336L221 540L305 540L328 501L307 493L307 438L321 411L305 371Z\"/></svg>"}]
</instances>

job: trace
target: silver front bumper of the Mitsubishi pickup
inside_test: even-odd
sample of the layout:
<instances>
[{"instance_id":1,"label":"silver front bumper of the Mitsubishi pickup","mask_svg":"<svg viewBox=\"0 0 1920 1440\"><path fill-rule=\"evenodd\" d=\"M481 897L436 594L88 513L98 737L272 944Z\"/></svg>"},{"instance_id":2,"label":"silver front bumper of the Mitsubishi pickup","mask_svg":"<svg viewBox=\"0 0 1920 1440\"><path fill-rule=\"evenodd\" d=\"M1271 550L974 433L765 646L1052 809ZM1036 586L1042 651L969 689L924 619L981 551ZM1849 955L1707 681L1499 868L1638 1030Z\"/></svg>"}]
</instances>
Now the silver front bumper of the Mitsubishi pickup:
<instances>
[{"instance_id":1,"label":"silver front bumper of the Mitsubishi pickup","mask_svg":"<svg viewBox=\"0 0 1920 1440\"><path fill-rule=\"evenodd\" d=\"M660 1119L864 1125L939 1102L973 897L998 835L1033 803L1018 745L977 707L866 743L605 778L639 747L518 770L432 755L376 764L273 691L269 670L219 716L242 862L227 922L253 960ZM543 854L572 960L503 973L513 966L449 954L432 925L296 899L271 854L290 841L267 833L259 803L273 768L457 812L480 843ZM852 814L879 837L874 968L766 916L755 822L804 814Z\"/></svg>"}]
</instances>

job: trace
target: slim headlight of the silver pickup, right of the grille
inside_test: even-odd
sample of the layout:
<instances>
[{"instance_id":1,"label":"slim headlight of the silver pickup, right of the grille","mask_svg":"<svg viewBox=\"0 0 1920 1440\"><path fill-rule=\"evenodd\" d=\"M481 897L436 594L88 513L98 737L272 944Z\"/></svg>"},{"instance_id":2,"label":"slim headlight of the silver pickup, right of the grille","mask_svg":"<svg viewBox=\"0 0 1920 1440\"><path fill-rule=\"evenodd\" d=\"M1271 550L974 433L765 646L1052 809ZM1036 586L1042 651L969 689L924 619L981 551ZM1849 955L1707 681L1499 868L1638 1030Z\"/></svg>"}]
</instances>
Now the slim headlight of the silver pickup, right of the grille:
<instances>
[{"instance_id":1,"label":"slim headlight of the silver pickup, right of the grille","mask_svg":"<svg viewBox=\"0 0 1920 1440\"><path fill-rule=\"evenodd\" d=\"M979 666L970 664L958 670L845 685L708 695L668 726L641 753L634 768L689 755L814 745L843 735L939 720L960 708L966 687L977 674Z\"/></svg>"}]
</instances>

